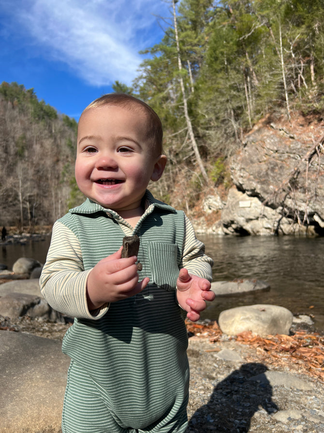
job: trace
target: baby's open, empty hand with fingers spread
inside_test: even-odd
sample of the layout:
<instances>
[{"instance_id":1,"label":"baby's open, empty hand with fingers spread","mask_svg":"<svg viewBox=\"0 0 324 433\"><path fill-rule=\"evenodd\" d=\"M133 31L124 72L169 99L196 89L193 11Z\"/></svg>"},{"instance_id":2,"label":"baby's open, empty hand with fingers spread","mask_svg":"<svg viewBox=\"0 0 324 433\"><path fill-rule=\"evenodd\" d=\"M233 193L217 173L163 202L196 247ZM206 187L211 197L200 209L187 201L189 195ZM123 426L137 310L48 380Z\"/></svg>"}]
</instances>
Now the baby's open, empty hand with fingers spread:
<instances>
[{"instance_id":1,"label":"baby's open, empty hand with fingers spread","mask_svg":"<svg viewBox=\"0 0 324 433\"><path fill-rule=\"evenodd\" d=\"M205 278L188 273L183 268L177 278L177 300L179 305L188 312L191 321L200 318L200 312L205 310L206 302L215 299L215 293L210 291L211 284Z\"/></svg>"}]
</instances>

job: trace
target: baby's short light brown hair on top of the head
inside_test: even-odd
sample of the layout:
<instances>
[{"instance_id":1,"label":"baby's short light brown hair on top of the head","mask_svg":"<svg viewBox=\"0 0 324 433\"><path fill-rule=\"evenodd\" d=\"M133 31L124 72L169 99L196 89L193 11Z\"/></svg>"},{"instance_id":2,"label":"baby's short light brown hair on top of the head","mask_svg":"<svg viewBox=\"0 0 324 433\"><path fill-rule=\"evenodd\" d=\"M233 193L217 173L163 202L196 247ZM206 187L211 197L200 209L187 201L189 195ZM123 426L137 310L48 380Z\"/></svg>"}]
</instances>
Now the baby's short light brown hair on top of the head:
<instances>
[{"instance_id":1,"label":"baby's short light brown hair on top of the head","mask_svg":"<svg viewBox=\"0 0 324 433\"><path fill-rule=\"evenodd\" d=\"M108 93L92 101L83 112L103 105L116 105L127 110L139 109L147 115L147 140L154 150L163 153L163 129L162 122L157 113L141 99L126 93ZM82 115L82 114L81 114Z\"/></svg>"}]
</instances>

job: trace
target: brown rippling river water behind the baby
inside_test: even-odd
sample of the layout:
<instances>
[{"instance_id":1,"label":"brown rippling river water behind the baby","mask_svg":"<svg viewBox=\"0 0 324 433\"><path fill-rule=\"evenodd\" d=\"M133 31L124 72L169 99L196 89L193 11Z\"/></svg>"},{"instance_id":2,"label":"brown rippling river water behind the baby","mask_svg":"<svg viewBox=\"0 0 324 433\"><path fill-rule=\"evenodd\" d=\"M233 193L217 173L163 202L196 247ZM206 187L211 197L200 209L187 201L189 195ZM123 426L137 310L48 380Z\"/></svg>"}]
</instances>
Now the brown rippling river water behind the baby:
<instances>
[{"instance_id":1,"label":"brown rippling river water behind the baby","mask_svg":"<svg viewBox=\"0 0 324 433\"><path fill-rule=\"evenodd\" d=\"M270 284L267 292L217 298L202 318L218 319L227 308L252 304L282 305L296 314L312 314L324 332L324 238L224 237L199 235L214 259L213 280L257 278ZM0 263L9 269L19 257L44 263L50 238L25 245L2 245Z\"/></svg>"}]
</instances>

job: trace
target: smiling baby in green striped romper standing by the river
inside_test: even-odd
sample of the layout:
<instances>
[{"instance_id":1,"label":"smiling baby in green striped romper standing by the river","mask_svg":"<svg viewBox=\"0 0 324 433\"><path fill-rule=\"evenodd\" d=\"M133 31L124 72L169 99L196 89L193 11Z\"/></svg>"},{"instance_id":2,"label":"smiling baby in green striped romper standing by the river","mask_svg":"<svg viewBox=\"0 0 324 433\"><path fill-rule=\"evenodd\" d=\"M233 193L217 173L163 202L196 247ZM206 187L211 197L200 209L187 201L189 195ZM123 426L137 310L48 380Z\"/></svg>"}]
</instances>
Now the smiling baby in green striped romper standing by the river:
<instances>
[{"instance_id":1,"label":"smiling baby in green striped romper standing by the river","mask_svg":"<svg viewBox=\"0 0 324 433\"><path fill-rule=\"evenodd\" d=\"M213 261L186 215L147 190L166 164L162 135L158 115L124 94L96 99L79 120L75 177L88 198L55 223L41 275L48 303L75 317L63 433L187 429L184 318L215 298ZM121 258L135 234L137 257Z\"/></svg>"}]
</instances>

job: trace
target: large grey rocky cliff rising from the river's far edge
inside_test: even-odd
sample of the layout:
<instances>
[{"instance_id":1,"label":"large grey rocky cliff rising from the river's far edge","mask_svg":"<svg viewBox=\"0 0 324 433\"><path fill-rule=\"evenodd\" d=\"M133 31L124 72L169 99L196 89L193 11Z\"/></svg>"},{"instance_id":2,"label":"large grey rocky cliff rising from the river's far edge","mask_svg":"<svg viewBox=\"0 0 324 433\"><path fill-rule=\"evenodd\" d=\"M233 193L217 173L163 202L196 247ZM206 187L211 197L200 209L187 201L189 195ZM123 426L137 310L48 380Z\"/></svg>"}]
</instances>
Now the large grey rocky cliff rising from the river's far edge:
<instances>
[{"instance_id":1,"label":"large grey rocky cliff rising from the river's far edge","mask_svg":"<svg viewBox=\"0 0 324 433\"><path fill-rule=\"evenodd\" d=\"M213 231L324 235L324 120L271 116L230 161L234 187Z\"/></svg>"}]
</instances>

